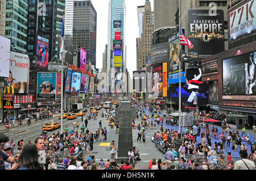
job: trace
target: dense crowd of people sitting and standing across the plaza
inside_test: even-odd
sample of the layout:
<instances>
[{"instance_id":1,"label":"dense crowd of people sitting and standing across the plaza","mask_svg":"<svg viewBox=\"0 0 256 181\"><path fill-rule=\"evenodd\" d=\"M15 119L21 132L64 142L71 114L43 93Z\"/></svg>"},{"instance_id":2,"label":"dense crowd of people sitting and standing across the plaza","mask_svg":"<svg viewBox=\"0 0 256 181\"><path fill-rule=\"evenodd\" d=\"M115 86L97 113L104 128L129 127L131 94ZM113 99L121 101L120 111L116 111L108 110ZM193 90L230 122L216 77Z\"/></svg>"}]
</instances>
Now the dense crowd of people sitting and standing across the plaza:
<instances>
[{"instance_id":1,"label":"dense crowd of people sitting and standing across the plaza","mask_svg":"<svg viewBox=\"0 0 256 181\"><path fill-rule=\"evenodd\" d=\"M241 170L255 169L256 150L252 149L251 153L247 150L245 144L239 142L239 132L226 132L226 135L220 135L221 142L212 142L216 128L210 128L210 125L200 128L197 125L188 127L187 130L180 135L174 129L164 129L164 121L169 121L171 125L176 126L174 118L168 114L160 117L149 118L149 115L144 115L139 120L139 113L143 110L150 110L150 105L132 103L137 110L137 120L134 119L133 127L138 129L137 141L144 141L147 128L156 129L152 136L152 145L162 149L165 160L152 159L148 165L150 170ZM153 107L153 112L156 115L163 112L159 107ZM108 112L107 112L108 113ZM108 116L115 126L119 125L118 120L113 115ZM135 124L139 121L139 124ZM23 140L18 141L18 154L14 155L15 142L9 140L5 134L0 134L0 157L1 169L11 170L134 170L134 159L140 160L140 154L136 148L127 150L128 161L104 161L100 159L96 162L95 155L92 154L93 145L96 141L107 140L108 131L102 128L101 120L96 131L89 131L87 125L82 124L81 128L74 121L73 129L69 130L68 126L64 129L64 133L57 132L47 136L41 134L34 142L28 141L24 144ZM159 125L159 127L156 127ZM117 126L118 127L118 126ZM159 129L159 130L157 130ZM116 129L117 130L117 129ZM118 131L116 131L118 133ZM227 141L231 139L231 135L236 134L235 145L236 150L240 149L240 161L233 161L232 154L225 149L225 146L230 146ZM198 137L201 137L199 142ZM229 137L230 136L230 137ZM177 144L179 142L179 144ZM240 146L238 146L240 145ZM116 147L114 141L110 144L110 158L114 158ZM224 151L228 157L224 157ZM85 155L89 155L87 159ZM26 160L30 160L27 162ZM38 162L41 160L42 162ZM112 159L113 160L113 159Z\"/></svg>"}]
</instances>

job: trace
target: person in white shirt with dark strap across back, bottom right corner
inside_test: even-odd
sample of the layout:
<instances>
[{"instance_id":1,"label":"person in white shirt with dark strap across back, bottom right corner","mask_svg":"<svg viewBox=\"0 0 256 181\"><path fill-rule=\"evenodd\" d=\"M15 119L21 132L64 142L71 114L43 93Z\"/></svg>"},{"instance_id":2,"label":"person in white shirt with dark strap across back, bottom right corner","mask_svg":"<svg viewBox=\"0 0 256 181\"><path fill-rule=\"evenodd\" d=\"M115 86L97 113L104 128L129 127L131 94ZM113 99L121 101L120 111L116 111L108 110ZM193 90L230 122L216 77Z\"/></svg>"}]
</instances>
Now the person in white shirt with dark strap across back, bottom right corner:
<instances>
[{"instance_id":1,"label":"person in white shirt with dark strap across back, bottom right corner","mask_svg":"<svg viewBox=\"0 0 256 181\"><path fill-rule=\"evenodd\" d=\"M247 158L247 150L240 150L239 154L241 160L236 161L234 170L256 170L255 163Z\"/></svg>"}]
</instances>

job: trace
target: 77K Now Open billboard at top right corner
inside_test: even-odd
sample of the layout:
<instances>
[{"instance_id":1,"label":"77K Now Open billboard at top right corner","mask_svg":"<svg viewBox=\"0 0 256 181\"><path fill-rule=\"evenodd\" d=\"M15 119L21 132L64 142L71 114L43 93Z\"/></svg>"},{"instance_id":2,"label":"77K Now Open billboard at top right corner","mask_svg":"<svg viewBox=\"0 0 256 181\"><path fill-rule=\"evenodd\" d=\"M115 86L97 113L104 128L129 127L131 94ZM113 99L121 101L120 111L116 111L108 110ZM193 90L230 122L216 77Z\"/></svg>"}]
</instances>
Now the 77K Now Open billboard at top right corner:
<instances>
[{"instance_id":1,"label":"77K Now Open billboard at top right corner","mask_svg":"<svg viewBox=\"0 0 256 181\"><path fill-rule=\"evenodd\" d=\"M229 49L254 41L250 35L256 33L255 9L256 2L246 0L228 10Z\"/></svg>"}]
</instances>

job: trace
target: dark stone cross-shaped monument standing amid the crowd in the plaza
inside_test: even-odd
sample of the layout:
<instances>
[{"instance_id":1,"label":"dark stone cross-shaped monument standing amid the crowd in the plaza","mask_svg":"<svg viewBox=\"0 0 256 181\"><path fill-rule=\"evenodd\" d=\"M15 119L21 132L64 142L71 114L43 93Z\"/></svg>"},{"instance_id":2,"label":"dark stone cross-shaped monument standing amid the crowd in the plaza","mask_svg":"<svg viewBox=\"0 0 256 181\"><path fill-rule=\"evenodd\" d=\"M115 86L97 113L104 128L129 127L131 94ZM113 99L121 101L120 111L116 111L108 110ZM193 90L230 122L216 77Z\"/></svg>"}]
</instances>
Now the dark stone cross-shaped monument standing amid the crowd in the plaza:
<instances>
[{"instance_id":1,"label":"dark stone cross-shaped monument standing amid the crowd in the plaza","mask_svg":"<svg viewBox=\"0 0 256 181\"><path fill-rule=\"evenodd\" d=\"M131 102L122 101L115 110L115 118L119 121L118 148L116 159L121 162L128 159L128 151L133 149L133 130L131 122L136 117L136 110L131 106Z\"/></svg>"}]
</instances>

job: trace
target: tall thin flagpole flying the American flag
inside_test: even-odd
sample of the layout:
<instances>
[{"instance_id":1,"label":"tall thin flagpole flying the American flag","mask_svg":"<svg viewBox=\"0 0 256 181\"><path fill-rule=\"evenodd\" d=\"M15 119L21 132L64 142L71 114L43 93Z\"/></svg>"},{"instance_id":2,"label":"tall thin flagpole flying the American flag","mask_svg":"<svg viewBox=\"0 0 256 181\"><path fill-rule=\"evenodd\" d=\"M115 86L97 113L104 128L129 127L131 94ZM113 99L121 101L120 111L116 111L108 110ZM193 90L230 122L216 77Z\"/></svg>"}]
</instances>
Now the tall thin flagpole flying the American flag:
<instances>
[{"instance_id":1,"label":"tall thin flagpole flying the American flag","mask_svg":"<svg viewBox=\"0 0 256 181\"><path fill-rule=\"evenodd\" d=\"M179 0L179 39L180 39L180 26L181 26L181 6L180 6L180 1ZM180 45L180 40L179 40L179 45ZM180 45L181 49L181 45ZM179 131L178 131L178 137L181 138L181 125L180 125L180 120L181 120L181 72L180 72L180 66L181 62L179 60Z\"/></svg>"}]
</instances>

